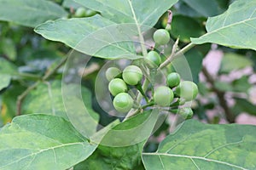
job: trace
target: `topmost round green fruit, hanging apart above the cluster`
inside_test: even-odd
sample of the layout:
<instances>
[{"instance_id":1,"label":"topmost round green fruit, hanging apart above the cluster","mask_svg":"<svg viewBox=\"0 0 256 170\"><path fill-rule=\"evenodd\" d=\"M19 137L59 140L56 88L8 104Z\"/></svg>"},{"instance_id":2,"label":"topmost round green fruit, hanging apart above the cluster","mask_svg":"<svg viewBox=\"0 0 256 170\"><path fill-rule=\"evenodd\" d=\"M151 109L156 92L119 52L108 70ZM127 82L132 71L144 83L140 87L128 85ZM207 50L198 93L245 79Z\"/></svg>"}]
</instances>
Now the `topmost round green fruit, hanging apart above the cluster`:
<instances>
[{"instance_id":1,"label":"topmost round green fruit, hanging apart above the cluster","mask_svg":"<svg viewBox=\"0 0 256 170\"><path fill-rule=\"evenodd\" d=\"M165 29L154 31L154 42L159 45L166 45L170 41L170 34Z\"/></svg>"}]
</instances>

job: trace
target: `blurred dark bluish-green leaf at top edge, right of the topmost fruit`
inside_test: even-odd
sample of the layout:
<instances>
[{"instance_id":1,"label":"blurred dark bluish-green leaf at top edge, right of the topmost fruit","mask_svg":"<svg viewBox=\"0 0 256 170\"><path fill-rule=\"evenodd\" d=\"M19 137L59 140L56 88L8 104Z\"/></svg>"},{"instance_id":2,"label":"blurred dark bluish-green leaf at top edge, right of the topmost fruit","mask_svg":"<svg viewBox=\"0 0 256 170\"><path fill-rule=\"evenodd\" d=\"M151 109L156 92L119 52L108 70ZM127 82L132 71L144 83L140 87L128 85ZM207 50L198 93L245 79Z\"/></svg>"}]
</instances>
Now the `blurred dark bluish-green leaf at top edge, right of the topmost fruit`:
<instances>
[{"instance_id":1,"label":"blurred dark bluish-green leaf at top edge, right of the topmost fruit","mask_svg":"<svg viewBox=\"0 0 256 170\"><path fill-rule=\"evenodd\" d=\"M189 7L194 8L196 12L206 17L217 15L223 12L218 7L216 0L183 0L183 2L187 3Z\"/></svg>"}]
</instances>

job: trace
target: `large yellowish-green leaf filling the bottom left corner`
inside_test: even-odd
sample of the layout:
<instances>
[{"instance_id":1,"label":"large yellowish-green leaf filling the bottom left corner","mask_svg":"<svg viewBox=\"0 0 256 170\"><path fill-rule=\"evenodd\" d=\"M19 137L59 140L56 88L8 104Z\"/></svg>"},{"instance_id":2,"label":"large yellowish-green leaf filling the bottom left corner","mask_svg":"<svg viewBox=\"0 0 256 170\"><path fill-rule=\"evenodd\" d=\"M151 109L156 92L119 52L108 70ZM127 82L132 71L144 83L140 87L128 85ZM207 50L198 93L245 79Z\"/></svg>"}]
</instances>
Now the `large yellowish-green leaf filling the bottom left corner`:
<instances>
[{"instance_id":1,"label":"large yellowish-green leaf filling the bottom left corner","mask_svg":"<svg viewBox=\"0 0 256 170\"><path fill-rule=\"evenodd\" d=\"M17 142L19 141L19 142ZM59 116L17 116L0 131L0 169L67 169L96 150Z\"/></svg>"}]
</instances>

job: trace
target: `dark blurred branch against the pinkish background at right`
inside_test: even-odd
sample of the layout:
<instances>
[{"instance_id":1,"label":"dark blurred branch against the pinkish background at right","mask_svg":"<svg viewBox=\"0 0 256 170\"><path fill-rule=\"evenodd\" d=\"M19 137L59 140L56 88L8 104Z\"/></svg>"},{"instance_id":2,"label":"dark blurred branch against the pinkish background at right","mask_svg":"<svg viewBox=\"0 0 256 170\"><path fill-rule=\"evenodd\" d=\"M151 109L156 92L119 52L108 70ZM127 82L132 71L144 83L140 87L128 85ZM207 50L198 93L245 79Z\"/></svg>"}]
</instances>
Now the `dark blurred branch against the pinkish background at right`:
<instances>
[{"instance_id":1,"label":"dark blurred branch against the pinkish background at right","mask_svg":"<svg viewBox=\"0 0 256 170\"><path fill-rule=\"evenodd\" d=\"M219 105L221 105L221 107L223 108L226 119L231 123L235 122L235 116L230 111L230 108L227 104L227 101L224 98L225 93L223 91L220 91L218 88L215 87L214 79L212 78L212 75L210 75L210 73L207 71L207 68L204 67L204 66L202 67L202 73L207 78L207 82L209 82L211 84L213 92L215 92L215 94L217 94Z\"/></svg>"}]
</instances>

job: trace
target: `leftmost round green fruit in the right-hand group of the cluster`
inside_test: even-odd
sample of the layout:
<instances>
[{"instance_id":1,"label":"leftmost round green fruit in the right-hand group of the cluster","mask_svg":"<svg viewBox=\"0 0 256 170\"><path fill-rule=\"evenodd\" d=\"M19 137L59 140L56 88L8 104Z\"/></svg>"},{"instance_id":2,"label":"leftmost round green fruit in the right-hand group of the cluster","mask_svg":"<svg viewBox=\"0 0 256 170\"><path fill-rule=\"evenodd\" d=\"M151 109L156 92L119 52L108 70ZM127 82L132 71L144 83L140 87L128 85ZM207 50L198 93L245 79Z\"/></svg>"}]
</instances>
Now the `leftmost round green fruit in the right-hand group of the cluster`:
<instances>
[{"instance_id":1,"label":"leftmost round green fruit in the right-hand group of the cluster","mask_svg":"<svg viewBox=\"0 0 256 170\"><path fill-rule=\"evenodd\" d=\"M154 91L154 103L160 106L169 106L172 103L173 96L171 88L160 86Z\"/></svg>"}]
</instances>

